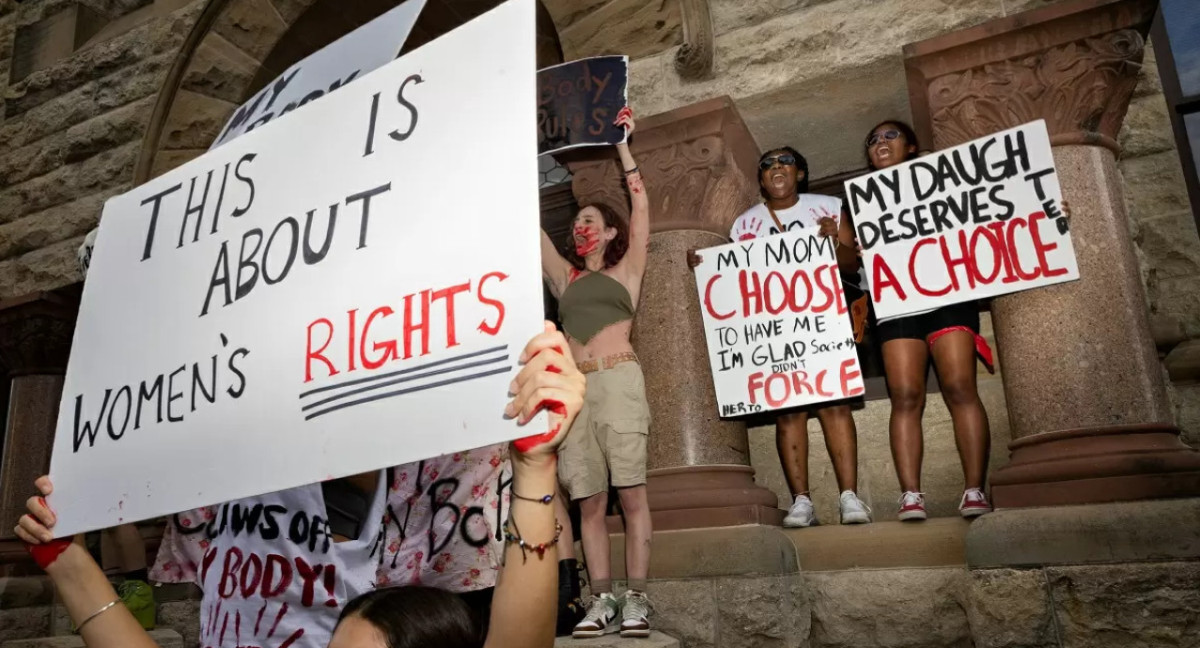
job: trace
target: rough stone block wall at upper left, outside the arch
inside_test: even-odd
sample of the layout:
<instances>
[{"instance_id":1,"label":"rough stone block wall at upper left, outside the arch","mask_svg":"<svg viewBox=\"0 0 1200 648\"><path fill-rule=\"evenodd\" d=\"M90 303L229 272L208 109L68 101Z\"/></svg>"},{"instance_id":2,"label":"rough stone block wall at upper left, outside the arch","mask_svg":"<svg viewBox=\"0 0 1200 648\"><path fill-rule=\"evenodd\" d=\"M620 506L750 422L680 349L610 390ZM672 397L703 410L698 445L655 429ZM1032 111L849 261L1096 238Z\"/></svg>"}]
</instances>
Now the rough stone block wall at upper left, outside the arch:
<instances>
[{"instance_id":1,"label":"rough stone block wall at upper left, outside the arch","mask_svg":"<svg viewBox=\"0 0 1200 648\"><path fill-rule=\"evenodd\" d=\"M0 0L0 298L80 280L76 250L104 200L130 188L156 95L205 0L92 0L120 32L101 29L8 83L14 32L70 5Z\"/></svg>"}]
</instances>

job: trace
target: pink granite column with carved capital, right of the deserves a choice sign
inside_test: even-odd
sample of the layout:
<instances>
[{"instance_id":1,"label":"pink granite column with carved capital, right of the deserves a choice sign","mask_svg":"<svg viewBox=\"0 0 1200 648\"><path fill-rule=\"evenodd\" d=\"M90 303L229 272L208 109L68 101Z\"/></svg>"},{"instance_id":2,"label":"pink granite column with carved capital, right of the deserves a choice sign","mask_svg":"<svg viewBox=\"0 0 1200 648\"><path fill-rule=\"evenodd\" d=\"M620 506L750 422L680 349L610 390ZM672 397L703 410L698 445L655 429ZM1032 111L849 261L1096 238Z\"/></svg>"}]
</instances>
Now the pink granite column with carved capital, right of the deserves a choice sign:
<instances>
[{"instance_id":1,"label":"pink granite column with carved capital, right of the deserves a choice sign","mask_svg":"<svg viewBox=\"0 0 1200 648\"><path fill-rule=\"evenodd\" d=\"M997 298L1012 460L997 506L1200 494L1178 439L1129 238L1117 132L1153 0L1072 0L905 48L935 149L1044 119L1072 205L1080 281Z\"/></svg>"}]
</instances>

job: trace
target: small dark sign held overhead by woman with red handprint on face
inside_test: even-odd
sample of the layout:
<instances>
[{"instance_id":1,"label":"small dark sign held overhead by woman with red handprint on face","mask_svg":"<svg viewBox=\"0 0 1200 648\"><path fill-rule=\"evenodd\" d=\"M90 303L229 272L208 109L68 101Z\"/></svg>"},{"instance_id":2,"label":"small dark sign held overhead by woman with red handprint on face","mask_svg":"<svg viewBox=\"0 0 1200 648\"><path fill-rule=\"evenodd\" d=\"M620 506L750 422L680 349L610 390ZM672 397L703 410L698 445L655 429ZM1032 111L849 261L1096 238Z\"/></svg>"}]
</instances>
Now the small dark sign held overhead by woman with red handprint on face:
<instances>
[{"instance_id":1,"label":"small dark sign held overhead by woman with red handprint on face","mask_svg":"<svg viewBox=\"0 0 1200 648\"><path fill-rule=\"evenodd\" d=\"M612 120L629 101L629 56L595 56L538 72L538 154L618 144Z\"/></svg>"}]
</instances>

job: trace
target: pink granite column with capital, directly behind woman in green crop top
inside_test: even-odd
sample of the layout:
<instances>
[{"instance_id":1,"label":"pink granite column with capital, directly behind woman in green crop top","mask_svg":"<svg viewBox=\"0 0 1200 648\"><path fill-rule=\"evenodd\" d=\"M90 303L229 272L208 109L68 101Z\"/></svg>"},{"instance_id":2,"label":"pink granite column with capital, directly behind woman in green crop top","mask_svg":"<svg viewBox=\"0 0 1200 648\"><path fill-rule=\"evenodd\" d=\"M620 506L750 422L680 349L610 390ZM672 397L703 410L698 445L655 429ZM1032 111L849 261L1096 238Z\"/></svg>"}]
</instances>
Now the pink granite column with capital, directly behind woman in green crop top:
<instances>
[{"instance_id":1,"label":"pink granite column with capital, directly behind woman in green crop top","mask_svg":"<svg viewBox=\"0 0 1200 648\"><path fill-rule=\"evenodd\" d=\"M648 488L656 530L778 524L776 498L754 482L745 424L721 420L688 250L726 242L756 199L758 148L720 97L638 120L632 152L650 197L650 258L634 322L654 422ZM616 158L572 162L578 203L628 214Z\"/></svg>"}]
</instances>

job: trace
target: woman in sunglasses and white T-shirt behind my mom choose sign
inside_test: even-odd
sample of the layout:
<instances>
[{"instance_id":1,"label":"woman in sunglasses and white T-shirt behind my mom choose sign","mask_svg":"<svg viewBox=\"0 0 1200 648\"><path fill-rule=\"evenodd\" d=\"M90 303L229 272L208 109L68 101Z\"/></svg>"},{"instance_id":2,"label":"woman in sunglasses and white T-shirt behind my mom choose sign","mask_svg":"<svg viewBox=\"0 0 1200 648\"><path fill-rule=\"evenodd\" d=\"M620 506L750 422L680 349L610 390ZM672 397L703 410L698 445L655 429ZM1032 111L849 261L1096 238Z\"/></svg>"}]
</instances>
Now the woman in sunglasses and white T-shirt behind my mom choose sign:
<instances>
[{"instance_id":1,"label":"woman in sunglasses and white T-shirt behind my mom choose sign","mask_svg":"<svg viewBox=\"0 0 1200 648\"><path fill-rule=\"evenodd\" d=\"M782 146L763 154L758 160L758 187L763 202L746 210L733 222L730 238L734 241L769 236L797 228L811 228L836 242L838 264L844 274L858 275L858 257L854 252L853 228L842 214L841 200L832 196L806 193L809 188L809 164L796 149ZM853 282L847 290L856 289ZM847 294L847 301L856 301ZM856 337L865 319L865 299L853 310ZM784 476L794 497L785 527L809 527L817 523L809 497L809 415L816 414L824 432L826 448L833 461L834 476L841 496L838 510L842 524L862 524L871 521L871 512L858 499L858 439L854 418L845 401L822 403L781 414L775 419L775 446Z\"/></svg>"}]
</instances>

